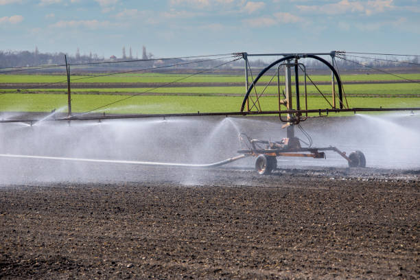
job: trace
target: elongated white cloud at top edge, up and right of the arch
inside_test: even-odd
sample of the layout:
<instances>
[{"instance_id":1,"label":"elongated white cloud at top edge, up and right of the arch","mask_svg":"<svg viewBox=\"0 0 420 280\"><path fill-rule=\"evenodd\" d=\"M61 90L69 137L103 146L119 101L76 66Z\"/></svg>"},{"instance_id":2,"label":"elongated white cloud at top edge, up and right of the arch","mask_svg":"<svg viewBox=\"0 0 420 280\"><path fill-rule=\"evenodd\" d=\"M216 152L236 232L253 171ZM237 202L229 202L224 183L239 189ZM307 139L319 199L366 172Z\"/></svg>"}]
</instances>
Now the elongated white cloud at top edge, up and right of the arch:
<instances>
[{"instance_id":1,"label":"elongated white cloud at top edge, up and right of the arch","mask_svg":"<svg viewBox=\"0 0 420 280\"><path fill-rule=\"evenodd\" d=\"M393 0L369 0L369 1L350 1L341 0L337 3L325 5L296 5L302 12L316 12L319 14L346 14L349 12L358 12L367 16L393 10Z\"/></svg>"}]
</instances>

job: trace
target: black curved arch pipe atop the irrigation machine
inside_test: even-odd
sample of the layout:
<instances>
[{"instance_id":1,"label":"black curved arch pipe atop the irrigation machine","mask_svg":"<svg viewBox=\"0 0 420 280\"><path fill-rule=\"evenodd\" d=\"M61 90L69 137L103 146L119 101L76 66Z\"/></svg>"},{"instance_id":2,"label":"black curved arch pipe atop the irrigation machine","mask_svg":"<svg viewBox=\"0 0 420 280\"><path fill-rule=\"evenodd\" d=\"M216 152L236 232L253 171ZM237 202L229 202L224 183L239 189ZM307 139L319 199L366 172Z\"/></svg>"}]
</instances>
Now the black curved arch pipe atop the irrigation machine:
<instances>
[{"instance_id":1,"label":"black curved arch pipe atop the irrigation machine","mask_svg":"<svg viewBox=\"0 0 420 280\"><path fill-rule=\"evenodd\" d=\"M334 67L325 59L320 58L319 56L314 56L313 54L305 54L303 56L285 56L284 58L280 58L279 60L276 60L275 62L272 62L270 65L268 65L268 67L264 68L261 70L261 72L259 72L259 74L257 75L257 77L255 78L255 80L253 81L252 84L250 84L248 91L246 91L246 95L244 97L244 101L242 101L242 106L241 106L241 112L244 112L244 108L245 108L245 104L246 104L246 100L248 100L248 96L250 94L250 92L252 91L253 87L255 86L255 84L258 82L259 78L261 78L262 75L264 75L264 73L266 73L266 71L268 71L271 67L279 64L280 62L283 62L285 60L291 60L294 58L314 58L316 60L319 60L320 62L323 62L325 65L327 65L327 67L329 67L329 69L331 69L331 71L334 73L334 76L336 77L337 80L337 85L338 85L338 98L340 99L340 109L342 109L342 84L341 84L341 79L340 79L340 75L338 75L336 69L334 69Z\"/></svg>"}]
</instances>

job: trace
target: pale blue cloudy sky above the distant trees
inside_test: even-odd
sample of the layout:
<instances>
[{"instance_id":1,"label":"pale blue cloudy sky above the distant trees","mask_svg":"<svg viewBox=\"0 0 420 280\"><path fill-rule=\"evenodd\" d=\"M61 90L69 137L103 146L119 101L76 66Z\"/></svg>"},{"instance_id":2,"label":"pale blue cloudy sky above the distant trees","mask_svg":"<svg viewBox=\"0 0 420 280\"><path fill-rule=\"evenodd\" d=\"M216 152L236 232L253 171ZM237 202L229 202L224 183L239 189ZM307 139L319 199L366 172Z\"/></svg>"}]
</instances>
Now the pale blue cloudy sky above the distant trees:
<instances>
[{"instance_id":1,"label":"pale blue cloudy sky above the distant trees","mask_svg":"<svg viewBox=\"0 0 420 280\"><path fill-rule=\"evenodd\" d=\"M0 0L0 49L420 54L417 0Z\"/></svg>"}]
</instances>

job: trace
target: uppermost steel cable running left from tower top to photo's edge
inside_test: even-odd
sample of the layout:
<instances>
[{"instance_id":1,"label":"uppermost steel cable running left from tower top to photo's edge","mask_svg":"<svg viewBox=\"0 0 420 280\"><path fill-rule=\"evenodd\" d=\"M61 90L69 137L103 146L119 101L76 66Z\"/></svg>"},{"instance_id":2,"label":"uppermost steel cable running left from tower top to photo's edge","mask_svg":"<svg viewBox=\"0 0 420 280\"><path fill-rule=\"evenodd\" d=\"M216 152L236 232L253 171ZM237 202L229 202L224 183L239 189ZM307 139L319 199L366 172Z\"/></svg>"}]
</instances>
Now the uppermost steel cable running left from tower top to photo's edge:
<instances>
[{"instance_id":1,"label":"uppermost steel cable running left from tower top to photo's edge","mask_svg":"<svg viewBox=\"0 0 420 280\"><path fill-rule=\"evenodd\" d=\"M190 58L210 58L214 56L232 56L233 54L209 54L204 56L180 56L177 58L148 58L148 59L138 59L138 60L119 60L119 61L102 61L102 62L84 62L84 63L72 63L68 64L70 66L80 66L80 65L102 65L102 64L114 64L114 63L128 63L128 62L146 62L146 61L156 61L156 60L176 60L176 59L190 59ZM26 71L34 70L32 67L43 68L53 68L53 67L65 67L66 65L34 65L34 66L21 66L21 67L0 67L1 69L19 69L14 71ZM27 68L27 69L23 69ZM12 71L0 71L0 73L9 73Z\"/></svg>"}]
</instances>

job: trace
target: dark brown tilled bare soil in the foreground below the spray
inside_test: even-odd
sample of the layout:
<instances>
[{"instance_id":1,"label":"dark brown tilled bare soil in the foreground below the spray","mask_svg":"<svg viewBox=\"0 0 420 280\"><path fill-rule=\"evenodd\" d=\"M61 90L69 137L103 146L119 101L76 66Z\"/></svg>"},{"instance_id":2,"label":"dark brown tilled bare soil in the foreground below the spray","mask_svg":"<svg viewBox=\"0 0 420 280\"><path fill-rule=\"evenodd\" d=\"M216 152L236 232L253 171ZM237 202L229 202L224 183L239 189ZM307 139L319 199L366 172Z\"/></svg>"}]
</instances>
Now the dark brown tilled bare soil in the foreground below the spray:
<instances>
[{"instance_id":1,"label":"dark brown tilled bare soil in the foreground below the spray","mask_svg":"<svg viewBox=\"0 0 420 280\"><path fill-rule=\"evenodd\" d=\"M0 278L420 277L418 171L216 169L185 186L136 168L142 183L1 187Z\"/></svg>"}]
</instances>

